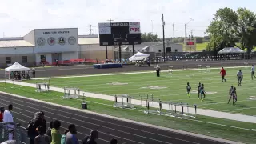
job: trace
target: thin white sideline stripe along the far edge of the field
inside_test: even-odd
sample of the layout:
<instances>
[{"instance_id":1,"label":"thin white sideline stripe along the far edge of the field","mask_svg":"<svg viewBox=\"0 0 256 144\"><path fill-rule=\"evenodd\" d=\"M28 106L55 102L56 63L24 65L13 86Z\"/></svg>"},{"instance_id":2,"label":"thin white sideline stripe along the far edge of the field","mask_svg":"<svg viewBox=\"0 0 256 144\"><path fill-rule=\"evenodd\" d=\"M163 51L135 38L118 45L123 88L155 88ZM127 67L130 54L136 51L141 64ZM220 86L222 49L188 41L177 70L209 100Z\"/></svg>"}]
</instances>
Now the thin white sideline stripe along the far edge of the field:
<instances>
[{"instance_id":1,"label":"thin white sideline stripe along the far edge of the field","mask_svg":"<svg viewBox=\"0 0 256 144\"><path fill-rule=\"evenodd\" d=\"M226 69L237 69L237 68L243 68L243 67L250 67L250 66L234 66L234 67L225 67ZM210 68L211 70L220 70L220 68ZM190 70L201 70L201 69L188 69L188 70L173 70L173 71L190 71ZM168 70L162 70L162 72L168 72ZM93 74L93 75L78 75L78 76L68 76L68 77L54 77L54 78L48 78L48 79L58 79L58 78L81 78L81 77L98 77L98 76L107 76L107 75L125 75L125 74L148 74L148 73L155 73L154 71L141 71L141 72L130 72L130 73L115 73L115 74ZM36 79L46 79L46 78L34 78Z\"/></svg>"}]
</instances>

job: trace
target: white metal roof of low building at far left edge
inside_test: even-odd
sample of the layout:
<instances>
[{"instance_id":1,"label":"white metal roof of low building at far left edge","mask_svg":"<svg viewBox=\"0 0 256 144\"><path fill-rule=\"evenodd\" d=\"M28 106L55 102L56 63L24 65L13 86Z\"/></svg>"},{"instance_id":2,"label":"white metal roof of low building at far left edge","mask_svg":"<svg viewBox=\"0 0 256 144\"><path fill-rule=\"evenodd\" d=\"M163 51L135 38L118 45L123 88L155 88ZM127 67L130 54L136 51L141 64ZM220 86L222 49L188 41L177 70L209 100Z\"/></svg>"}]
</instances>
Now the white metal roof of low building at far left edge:
<instances>
[{"instance_id":1,"label":"white metal roof of low building at far left edge","mask_svg":"<svg viewBox=\"0 0 256 144\"><path fill-rule=\"evenodd\" d=\"M30 47L34 46L30 42L25 40L11 40L11 41L0 41L0 47Z\"/></svg>"}]
</instances>

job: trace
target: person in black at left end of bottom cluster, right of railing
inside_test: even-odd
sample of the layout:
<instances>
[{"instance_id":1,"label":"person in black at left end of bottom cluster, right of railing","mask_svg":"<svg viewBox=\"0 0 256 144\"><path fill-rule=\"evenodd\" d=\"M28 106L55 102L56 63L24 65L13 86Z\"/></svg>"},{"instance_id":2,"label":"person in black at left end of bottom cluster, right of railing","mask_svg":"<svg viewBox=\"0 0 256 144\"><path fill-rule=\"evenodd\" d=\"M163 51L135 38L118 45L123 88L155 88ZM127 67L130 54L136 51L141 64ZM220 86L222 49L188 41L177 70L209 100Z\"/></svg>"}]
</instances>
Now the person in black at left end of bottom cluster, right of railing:
<instances>
[{"instance_id":1,"label":"person in black at left end of bottom cluster, right of railing","mask_svg":"<svg viewBox=\"0 0 256 144\"><path fill-rule=\"evenodd\" d=\"M35 121L38 120L39 117L39 112L34 114L34 118L32 120L30 120L29 125L26 127L27 130L27 135L30 138L30 144L34 144L34 138L38 135L36 128L34 126Z\"/></svg>"}]
</instances>

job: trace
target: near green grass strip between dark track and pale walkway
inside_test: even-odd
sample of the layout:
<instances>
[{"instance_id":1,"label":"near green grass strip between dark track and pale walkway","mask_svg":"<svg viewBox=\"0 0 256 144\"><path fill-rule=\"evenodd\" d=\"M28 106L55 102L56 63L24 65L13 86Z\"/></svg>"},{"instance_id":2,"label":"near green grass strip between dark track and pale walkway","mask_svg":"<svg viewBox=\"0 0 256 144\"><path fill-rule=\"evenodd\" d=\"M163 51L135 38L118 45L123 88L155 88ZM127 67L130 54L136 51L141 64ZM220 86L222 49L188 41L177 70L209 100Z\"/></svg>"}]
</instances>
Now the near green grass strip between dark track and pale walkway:
<instances>
[{"instance_id":1,"label":"near green grass strip between dark track and pale walkway","mask_svg":"<svg viewBox=\"0 0 256 144\"><path fill-rule=\"evenodd\" d=\"M11 88L14 86L14 88ZM64 106L71 106L80 109L82 99L62 99L63 93L49 92L49 93L36 93L35 89L26 86L15 86L0 82L0 91L11 94L19 94L27 98L40 99L46 102L53 102ZM101 114L109 114L119 118L126 118L138 122L150 123L158 126L165 126L177 130L185 130L197 134L205 134L212 137L226 138L237 142L255 143L256 132L255 125L247 122L237 122L226 120L222 118L210 118L205 116L198 116L197 118L178 119L166 116L158 116L155 114L143 114L143 107L138 107L136 110L123 110L113 108L114 102L97 99L86 98L88 102L88 110L98 112ZM218 126L206 122L214 122L228 126ZM242 129L230 127L236 126ZM243 130L248 129L248 130Z\"/></svg>"}]
</instances>

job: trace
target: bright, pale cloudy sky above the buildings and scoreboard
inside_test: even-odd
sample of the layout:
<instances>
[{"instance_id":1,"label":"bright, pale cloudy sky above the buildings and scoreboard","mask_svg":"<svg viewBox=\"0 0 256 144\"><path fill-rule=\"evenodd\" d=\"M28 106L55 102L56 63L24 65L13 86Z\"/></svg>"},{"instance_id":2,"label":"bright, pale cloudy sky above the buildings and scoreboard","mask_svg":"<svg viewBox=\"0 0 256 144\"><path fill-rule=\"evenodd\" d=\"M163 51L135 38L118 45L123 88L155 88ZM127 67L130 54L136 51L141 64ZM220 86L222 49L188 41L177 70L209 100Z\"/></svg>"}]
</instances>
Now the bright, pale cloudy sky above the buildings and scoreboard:
<instances>
[{"instance_id":1,"label":"bright, pale cloudy sky above the buildings and scoreboard","mask_svg":"<svg viewBox=\"0 0 256 144\"><path fill-rule=\"evenodd\" d=\"M222 7L254 10L253 0L0 0L0 37L24 36L34 29L77 27L78 34L98 34L98 22L141 22L143 33L162 38L205 36L205 30ZM190 21L190 19L193 19ZM173 24L174 31L173 33Z\"/></svg>"}]
</instances>

